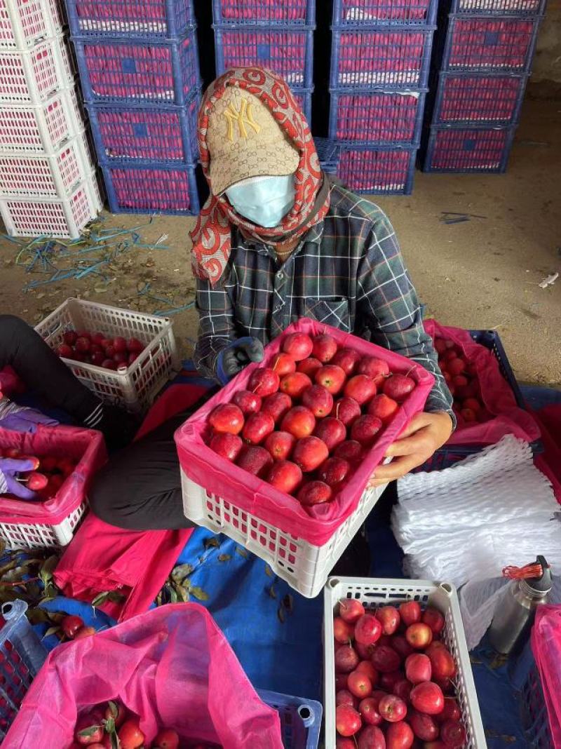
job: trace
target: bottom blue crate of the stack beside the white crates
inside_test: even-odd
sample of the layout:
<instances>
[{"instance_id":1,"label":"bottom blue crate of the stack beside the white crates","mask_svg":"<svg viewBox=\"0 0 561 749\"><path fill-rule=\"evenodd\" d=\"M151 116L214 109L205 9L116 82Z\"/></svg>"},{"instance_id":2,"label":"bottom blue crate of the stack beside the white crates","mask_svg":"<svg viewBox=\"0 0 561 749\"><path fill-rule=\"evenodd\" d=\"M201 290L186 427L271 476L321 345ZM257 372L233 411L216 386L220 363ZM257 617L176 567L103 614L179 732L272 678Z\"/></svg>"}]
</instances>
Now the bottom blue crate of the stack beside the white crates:
<instances>
[{"instance_id":1,"label":"bottom blue crate of the stack beside the white crates","mask_svg":"<svg viewBox=\"0 0 561 749\"><path fill-rule=\"evenodd\" d=\"M102 164L101 169L112 213L198 215L193 164L115 161Z\"/></svg>"}]
</instances>

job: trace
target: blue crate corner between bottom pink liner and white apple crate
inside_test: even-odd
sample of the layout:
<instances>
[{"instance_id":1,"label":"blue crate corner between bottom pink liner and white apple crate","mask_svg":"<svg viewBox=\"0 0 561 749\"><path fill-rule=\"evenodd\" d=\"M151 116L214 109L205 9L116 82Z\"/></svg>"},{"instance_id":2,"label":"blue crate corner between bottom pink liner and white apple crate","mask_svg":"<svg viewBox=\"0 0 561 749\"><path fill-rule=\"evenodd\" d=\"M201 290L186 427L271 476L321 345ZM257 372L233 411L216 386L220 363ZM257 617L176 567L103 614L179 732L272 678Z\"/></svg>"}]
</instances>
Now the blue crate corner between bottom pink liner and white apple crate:
<instances>
[{"instance_id":1,"label":"blue crate corner between bottom pink liner and white apple crate","mask_svg":"<svg viewBox=\"0 0 561 749\"><path fill-rule=\"evenodd\" d=\"M317 749L323 713L321 703L264 689L258 689L257 693L279 713L285 749Z\"/></svg>"}]
</instances>

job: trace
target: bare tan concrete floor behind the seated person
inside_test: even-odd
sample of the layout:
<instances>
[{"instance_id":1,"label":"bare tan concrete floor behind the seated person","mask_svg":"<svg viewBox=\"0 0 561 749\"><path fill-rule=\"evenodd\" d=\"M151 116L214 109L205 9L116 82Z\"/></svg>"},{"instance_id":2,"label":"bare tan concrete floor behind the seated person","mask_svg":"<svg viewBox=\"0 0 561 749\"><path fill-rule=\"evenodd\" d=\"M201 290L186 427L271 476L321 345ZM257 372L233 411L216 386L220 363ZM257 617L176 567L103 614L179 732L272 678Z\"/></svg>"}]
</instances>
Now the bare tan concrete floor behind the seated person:
<instances>
[{"instance_id":1,"label":"bare tan concrete floor behind the seated person","mask_svg":"<svg viewBox=\"0 0 561 749\"><path fill-rule=\"evenodd\" d=\"M506 175L416 173L413 195L377 201L389 214L427 314L444 324L494 328L519 380L561 387L561 102L527 101ZM446 225L444 211L485 218ZM133 227L145 216L106 216L104 226ZM31 324L69 296L154 311L162 303L138 297L150 282L156 296L181 306L193 299L187 232L194 219L160 216L139 229L142 241L169 234L168 250L134 250L109 267L109 282L96 276L49 284L25 293L40 276L14 264L18 247L0 238L0 312L16 312ZM44 276L43 276L44 277ZM189 352L197 315L174 315Z\"/></svg>"}]
</instances>

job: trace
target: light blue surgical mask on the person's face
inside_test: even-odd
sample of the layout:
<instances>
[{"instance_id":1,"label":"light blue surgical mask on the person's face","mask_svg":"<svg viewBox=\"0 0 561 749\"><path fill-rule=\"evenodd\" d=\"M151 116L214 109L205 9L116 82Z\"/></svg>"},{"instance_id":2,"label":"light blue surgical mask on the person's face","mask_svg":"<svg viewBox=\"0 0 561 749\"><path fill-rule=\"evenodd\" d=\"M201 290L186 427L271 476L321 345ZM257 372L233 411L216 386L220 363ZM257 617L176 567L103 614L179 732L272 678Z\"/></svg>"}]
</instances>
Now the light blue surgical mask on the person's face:
<instances>
[{"instance_id":1,"label":"light blue surgical mask on the person's face","mask_svg":"<svg viewBox=\"0 0 561 749\"><path fill-rule=\"evenodd\" d=\"M252 177L228 187L236 213L264 228L278 226L294 205L294 175Z\"/></svg>"}]
</instances>

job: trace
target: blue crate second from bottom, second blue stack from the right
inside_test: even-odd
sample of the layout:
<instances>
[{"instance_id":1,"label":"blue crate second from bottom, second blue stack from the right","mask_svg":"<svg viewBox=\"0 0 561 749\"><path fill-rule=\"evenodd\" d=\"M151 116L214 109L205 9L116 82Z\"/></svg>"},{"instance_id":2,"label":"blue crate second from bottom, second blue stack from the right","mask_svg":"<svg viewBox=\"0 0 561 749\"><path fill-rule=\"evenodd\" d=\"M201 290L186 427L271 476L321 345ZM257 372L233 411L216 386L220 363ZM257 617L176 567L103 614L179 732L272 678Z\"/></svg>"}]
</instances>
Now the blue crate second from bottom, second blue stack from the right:
<instances>
[{"instance_id":1,"label":"blue crate second from bottom, second blue stack from the right","mask_svg":"<svg viewBox=\"0 0 561 749\"><path fill-rule=\"evenodd\" d=\"M331 91L330 138L363 145L419 145L426 91Z\"/></svg>"}]
</instances>

